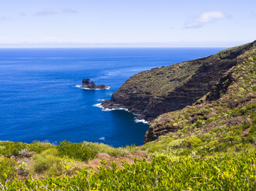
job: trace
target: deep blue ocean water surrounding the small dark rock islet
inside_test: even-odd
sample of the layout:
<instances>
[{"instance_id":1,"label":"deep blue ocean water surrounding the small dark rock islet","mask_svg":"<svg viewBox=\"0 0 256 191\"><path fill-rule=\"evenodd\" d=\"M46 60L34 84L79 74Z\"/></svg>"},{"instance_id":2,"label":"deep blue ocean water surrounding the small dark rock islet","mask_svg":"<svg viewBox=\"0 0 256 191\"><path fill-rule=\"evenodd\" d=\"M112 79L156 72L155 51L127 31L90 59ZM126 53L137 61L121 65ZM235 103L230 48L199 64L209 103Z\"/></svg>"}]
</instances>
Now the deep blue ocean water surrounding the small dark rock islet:
<instances>
[{"instance_id":1,"label":"deep blue ocean water surrounding the small dark rock islet","mask_svg":"<svg viewBox=\"0 0 256 191\"><path fill-rule=\"evenodd\" d=\"M131 75L211 55L213 49L0 49L0 140L142 145L148 125L94 105ZM109 90L85 90L84 78Z\"/></svg>"}]
</instances>

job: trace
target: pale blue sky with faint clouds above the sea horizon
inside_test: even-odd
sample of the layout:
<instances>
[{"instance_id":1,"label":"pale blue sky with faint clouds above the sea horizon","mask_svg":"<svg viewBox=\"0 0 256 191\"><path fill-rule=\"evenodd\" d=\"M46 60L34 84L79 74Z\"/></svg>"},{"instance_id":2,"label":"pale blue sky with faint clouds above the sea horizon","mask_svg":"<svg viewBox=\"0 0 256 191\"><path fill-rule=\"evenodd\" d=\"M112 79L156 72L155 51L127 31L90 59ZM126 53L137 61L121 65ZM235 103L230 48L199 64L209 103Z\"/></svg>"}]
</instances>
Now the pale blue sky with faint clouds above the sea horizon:
<instances>
[{"instance_id":1,"label":"pale blue sky with faint clouds above the sea horizon","mask_svg":"<svg viewBox=\"0 0 256 191\"><path fill-rule=\"evenodd\" d=\"M0 0L0 48L230 47L255 37L255 0Z\"/></svg>"}]
</instances>

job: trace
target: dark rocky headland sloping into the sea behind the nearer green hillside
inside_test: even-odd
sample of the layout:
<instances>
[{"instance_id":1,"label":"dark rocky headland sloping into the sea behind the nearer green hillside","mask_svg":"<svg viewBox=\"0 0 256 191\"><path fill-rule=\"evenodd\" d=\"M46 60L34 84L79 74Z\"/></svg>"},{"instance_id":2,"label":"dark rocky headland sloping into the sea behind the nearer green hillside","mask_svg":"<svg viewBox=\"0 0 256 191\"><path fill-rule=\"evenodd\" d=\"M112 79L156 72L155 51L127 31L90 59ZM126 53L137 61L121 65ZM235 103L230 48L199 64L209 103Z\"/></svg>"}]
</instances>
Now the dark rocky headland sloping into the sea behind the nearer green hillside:
<instances>
[{"instance_id":1,"label":"dark rocky headland sloping into the sea behind the nearer green hillside","mask_svg":"<svg viewBox=\"0 0 256 191\"><path fill-rule=\"evenodd\" d=\"M131 76L102 106L108 109L125 107L140 115L138 119L149 121L162 113L183 109L207 94L224 72L237 65L237 56L251 49L253 44L226 49L203 59L140 72ZM220 95L214 96L211 97L217 99Z\"/></svg>"}]
</instances>

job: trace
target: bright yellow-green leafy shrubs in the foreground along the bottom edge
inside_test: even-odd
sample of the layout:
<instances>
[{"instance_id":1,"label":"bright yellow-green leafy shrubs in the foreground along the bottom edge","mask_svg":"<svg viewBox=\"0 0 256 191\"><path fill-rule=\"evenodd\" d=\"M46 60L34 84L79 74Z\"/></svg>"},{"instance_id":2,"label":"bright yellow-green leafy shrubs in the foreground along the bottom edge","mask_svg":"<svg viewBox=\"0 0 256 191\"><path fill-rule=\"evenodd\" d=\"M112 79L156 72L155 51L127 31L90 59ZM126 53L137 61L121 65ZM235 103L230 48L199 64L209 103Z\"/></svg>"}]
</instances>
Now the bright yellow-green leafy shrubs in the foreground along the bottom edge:
<instances>
[{"instance_id":1,"label":"bright yellow-green leafy shrubs in the foreground along the bottom edge","mask_svg":"<svg viewBox=\"0 0 256 191\"><path fill-rule=\"evenodd\" d=\"M104 162L103 162L104 163ZM238 157L197 159L183 156L170 159L155 157L118 169L99 166L99 172L81 169L75 176L26 179L2 186L6 190L253 190L255 152Z\"/></svg>"}]
</instances>

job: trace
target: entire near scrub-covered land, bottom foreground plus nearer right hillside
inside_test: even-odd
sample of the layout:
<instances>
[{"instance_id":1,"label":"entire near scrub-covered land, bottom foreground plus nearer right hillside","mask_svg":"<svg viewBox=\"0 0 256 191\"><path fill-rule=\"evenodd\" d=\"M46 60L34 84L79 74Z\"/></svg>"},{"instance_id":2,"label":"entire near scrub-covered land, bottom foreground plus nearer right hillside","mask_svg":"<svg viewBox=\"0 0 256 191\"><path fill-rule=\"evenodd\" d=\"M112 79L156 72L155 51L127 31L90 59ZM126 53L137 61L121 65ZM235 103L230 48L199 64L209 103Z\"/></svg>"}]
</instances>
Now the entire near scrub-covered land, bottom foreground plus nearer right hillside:
<instances>
[{"instance_id":1,"label":"entire near scrub-covered land, bottom foreground plus nearer right hillside","mask_svg":"<svg viewBox=\"0 0 256 191\"><path fill-rule=\"evenodd\" d=\"M220 97L152 121L158 139L143 146L0 142L0 190L254 190L255 51L237 57Z\"/></svg>"}]
</instances>

